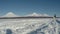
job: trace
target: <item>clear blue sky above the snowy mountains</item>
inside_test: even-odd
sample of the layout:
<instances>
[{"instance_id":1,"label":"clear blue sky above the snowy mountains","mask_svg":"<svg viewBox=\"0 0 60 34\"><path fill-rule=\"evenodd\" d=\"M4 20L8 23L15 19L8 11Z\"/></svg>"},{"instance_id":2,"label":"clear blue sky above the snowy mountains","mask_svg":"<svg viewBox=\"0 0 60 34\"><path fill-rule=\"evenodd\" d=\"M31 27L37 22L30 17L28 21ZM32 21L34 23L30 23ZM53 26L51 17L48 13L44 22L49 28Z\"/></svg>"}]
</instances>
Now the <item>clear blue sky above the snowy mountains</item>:
<instances>
[{"instance_id":1,"label":"clear blue sky above the snowy mountains","mask_svg":"<svg viewBox=\"0 0 60 34\"><path fill-rule=\"evenodd\" d=\"M60 16L60 0L0 0L0 16L8 12L17 15L36 12Z\"/></svg>"}]
</instances>

